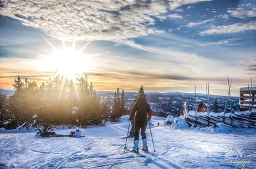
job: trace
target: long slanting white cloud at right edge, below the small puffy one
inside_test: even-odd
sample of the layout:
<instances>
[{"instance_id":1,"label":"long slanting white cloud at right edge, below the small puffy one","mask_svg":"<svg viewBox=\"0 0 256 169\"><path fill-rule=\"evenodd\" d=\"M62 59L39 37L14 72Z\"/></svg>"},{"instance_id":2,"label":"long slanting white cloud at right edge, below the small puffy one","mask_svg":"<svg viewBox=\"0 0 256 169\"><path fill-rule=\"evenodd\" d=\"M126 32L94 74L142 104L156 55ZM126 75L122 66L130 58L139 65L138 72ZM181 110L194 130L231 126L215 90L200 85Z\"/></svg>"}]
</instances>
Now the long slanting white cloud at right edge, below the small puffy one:
<instances>
[{"instance_id":1,"label":"long slanting white cloud at right edge, below the small puffy one","mask_svg":"<svg viewBox=\"0 0 256 169\"><path fill-rule=\"evenodd\" d=\"M249 23L235 23L233 25L213 26L208 30L200 32L200 35L213 35L213 34L232 34L237 32L244 32L247 30L255 30L256 21Z\"/></svg>"}]
</instances>

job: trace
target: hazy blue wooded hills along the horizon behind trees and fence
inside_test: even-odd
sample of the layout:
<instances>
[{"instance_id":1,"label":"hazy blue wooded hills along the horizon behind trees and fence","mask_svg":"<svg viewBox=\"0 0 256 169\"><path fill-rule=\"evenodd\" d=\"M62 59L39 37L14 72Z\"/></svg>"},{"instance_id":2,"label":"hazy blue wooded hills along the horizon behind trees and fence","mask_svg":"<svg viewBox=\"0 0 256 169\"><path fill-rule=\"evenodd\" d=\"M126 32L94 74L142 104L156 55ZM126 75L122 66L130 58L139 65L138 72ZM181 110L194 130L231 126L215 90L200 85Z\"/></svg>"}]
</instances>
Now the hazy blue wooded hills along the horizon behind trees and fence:
<instances>
[{"instance_id":1,"label":"hazy blue wooded hills along the horizon behind trees and fence","mask_svg":"<svg viewBox=\"0 0 256 169\"><path fill-rule=\"evenodd\" d=\"M14 94L14 90L1 89L1 92L10 96ZM114 92L109 91L99 91L101 100L113 101ZM132 108L134 105L136 92L125 92L126 106ZM196 94L196 100L194 94L191 93L179 93L179 92L169 92L169 93L146 93L148 103L152 107L154 112L161 114L161 116L167 116L169 114L176 115L179 113L181 106L184 102L187 102L187 107L189 110L194 110L197 108L198 104L202 101L206 103L205 94ZM226 96L223 95L210 95L210 110L214 109L213 102L215 99L218 100L219 111L224 110L226 103ZM229 104L228 104L229 105ZM231 97L231 106L233 111L239 110L239 97ZM229 108L227 108L229 111Z\"/></svg>"}]
</instances>

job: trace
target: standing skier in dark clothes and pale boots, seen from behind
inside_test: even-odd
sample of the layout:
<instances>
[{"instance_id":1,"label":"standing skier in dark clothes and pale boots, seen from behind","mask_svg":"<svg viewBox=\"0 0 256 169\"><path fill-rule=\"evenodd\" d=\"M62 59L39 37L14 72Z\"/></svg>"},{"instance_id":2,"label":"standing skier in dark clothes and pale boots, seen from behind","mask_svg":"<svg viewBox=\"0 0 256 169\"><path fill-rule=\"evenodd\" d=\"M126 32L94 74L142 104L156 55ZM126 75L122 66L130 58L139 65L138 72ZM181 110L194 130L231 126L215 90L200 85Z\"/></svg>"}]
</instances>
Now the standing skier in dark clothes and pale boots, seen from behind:
<instances>
[{"instance_id":1,"label":"standing skier in dark clothes and pale boots, seen from behind","mask_svg":"<svg viewBox=\"0 0 256 169\"><path fill-rule=\"evenodd\" d=\"M135 115L135 117L134 117ZM146 126L147 122L150 121L152 117L152 110L150 105L146 103L146 95L139 94L137 102L134 104L132 111L130 113L129 120L134 119L135 134L134 134L134 149L133 151L139 153L139 130L141 130L141 136L143 141L142 150L148 152L148 145L146 140Z\"/></svg>"}]
</instances>

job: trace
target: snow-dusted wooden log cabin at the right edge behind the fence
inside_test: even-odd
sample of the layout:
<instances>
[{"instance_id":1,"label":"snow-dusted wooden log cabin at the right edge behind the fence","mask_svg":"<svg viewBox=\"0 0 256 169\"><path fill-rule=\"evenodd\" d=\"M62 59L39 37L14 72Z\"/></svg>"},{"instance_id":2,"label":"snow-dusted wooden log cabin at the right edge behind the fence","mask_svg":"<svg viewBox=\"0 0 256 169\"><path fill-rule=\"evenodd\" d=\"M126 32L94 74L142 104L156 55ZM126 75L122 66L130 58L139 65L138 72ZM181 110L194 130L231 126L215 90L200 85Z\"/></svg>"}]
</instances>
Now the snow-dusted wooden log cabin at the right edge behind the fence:
<instances>
[{"instance_id":1,"label":"snow-dusted wooden log cabin at the right edge behind the fence","mask_svg":"<svg viewBox=\"0 0 256 169\"><path fill-rule=\"evenodd\" d=\"M256 86L240 88L240 110L256 109Z\"/></svg>"}]
</instances>

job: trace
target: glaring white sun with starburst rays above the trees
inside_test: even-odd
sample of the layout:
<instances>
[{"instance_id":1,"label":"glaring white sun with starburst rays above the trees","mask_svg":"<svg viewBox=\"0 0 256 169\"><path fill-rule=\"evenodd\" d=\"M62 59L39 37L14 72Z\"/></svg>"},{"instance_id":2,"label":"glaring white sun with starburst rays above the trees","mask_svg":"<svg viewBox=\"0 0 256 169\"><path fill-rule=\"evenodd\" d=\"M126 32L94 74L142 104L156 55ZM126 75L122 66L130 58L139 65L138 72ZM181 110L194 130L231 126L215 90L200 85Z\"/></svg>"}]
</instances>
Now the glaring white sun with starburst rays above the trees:
<instances>
[{"instance_id":1,"label":"glaring white sun with starburst rays above the trees","mask_svg":"<svg viewBox=\"0 0 256 169\"><path fill-rule=\"evenodd\" d=\"M57 48L44 39L52 47L52 52L40 55L40 59L35 62L38 70L56 72L73 80L84 73L93 72L93 55L84 53L91 41L87 41L81 48L76 48L76 41L73 41L71 46L62 41L62 48Z\"/></svg>"}]
</instances>

